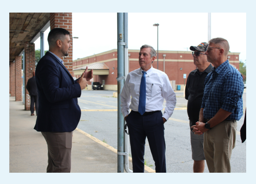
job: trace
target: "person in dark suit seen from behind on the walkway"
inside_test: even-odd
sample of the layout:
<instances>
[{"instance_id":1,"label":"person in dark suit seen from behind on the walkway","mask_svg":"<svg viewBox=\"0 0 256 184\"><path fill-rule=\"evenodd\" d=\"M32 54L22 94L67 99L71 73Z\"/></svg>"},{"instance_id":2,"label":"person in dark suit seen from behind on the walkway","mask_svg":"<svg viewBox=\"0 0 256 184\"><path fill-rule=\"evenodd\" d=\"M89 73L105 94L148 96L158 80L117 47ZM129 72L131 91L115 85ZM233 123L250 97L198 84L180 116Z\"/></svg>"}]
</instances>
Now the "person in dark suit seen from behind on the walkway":
<instances>
[{"instance_id":1,"label":"person in dark suit seen from behind on the walkway","mask_svg":"<svg viewBox=\"0 0 256 184\"><path fill-rule=\"evenodd\" d=\"M31 116L34 116L34 104L36 107L36 113L38 112L38 93L37 93L37 84L35 82L35 71L33 71L33 77L28 79L26 86L28 93L30 95L30 111Z\"/></svg>"}]
</instances>

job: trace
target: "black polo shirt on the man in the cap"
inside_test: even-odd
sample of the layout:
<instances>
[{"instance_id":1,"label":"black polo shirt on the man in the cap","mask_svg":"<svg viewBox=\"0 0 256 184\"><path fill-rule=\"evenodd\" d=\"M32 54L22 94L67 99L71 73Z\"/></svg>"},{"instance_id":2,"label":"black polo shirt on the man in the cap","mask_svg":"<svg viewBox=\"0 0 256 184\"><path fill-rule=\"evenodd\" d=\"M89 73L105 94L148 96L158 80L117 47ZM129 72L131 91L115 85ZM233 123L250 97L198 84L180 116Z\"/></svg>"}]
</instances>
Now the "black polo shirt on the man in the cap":
<instances>
[{"instance_id":1,"label":"black polo shirt on the man in the cap","mask_svg":"<svg viewBox=\"0 0 256 184\"><path fill-rule=\"evenodd\" d=\"M188 100L187 112L190 120L191 131L193 130L191 126L195 125L199 120L205 77L208 75L208 73L211 73L212 69L213 67L210 64L209 67L207 67L202 73L200 73L198 69L195 69L188 75L185 89L185 99Z\"/></svg>"}]
</instances>

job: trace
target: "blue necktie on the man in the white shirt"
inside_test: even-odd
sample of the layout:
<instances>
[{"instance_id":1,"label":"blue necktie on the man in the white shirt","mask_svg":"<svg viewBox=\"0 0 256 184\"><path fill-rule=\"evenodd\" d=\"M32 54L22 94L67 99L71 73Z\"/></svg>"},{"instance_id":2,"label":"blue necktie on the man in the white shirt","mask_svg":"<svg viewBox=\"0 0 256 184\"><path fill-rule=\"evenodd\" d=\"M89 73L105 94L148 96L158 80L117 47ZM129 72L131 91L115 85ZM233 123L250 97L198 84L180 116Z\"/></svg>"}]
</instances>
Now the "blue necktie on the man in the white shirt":
<instances>
[{"instance_id":1,"label":"blue necktie on the man in the white shirt","mask_svg":"<svg viewBox=\"0 0 256 184\"><path fill-rule=\"evenodd\" d=\"M140 81L140 99L138 111L143 115L146 111L146 72L142 71L143 76Z\"/></svg>"}]
</instances>

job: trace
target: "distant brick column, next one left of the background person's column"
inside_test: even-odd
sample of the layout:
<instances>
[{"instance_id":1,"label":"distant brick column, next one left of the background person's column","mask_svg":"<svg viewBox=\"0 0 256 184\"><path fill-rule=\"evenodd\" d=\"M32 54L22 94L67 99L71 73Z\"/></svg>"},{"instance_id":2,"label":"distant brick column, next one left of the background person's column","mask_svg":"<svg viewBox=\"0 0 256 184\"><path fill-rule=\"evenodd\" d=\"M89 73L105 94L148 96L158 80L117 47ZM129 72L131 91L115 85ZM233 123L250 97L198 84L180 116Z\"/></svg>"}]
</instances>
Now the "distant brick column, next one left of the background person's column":
<instances>
[{"instance_id":1,"label":"distant brick column, next one left of the background person's column","mask_svg":"<svg viewBox=\"0 0 256 184\"><path fill-rule=\"evenodd\" d=\"M15 56L15 101L22 100L21 56Z\"/></svg>"}]
</instances>

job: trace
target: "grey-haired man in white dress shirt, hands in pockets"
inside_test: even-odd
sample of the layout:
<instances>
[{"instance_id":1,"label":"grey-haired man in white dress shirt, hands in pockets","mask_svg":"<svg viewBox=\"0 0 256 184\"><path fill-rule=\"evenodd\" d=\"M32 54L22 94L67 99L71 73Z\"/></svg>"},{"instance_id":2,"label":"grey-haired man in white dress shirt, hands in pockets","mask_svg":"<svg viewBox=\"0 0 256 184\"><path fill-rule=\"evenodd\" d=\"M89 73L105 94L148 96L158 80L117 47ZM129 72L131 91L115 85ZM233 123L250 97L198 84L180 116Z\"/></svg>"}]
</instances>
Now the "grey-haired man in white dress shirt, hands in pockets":
<instances>
[{"instance_id":1,"label":"grey-haired man in white dress shirt, hands in pockets","mask_svg":"<svg viewBox=\"0 0 256 184\"><path fill-rule=\"evenodd\" d=\"M140 47L140 68L127 75L121 93L121 111L129 128L133 172L144 172L146 137L156 172L166 172L164 123L173 113L176 96L168 76L152 67L155 59L153 47ZM164 99L166 107L162 114Z\"/></svg>"}]
</instances>

